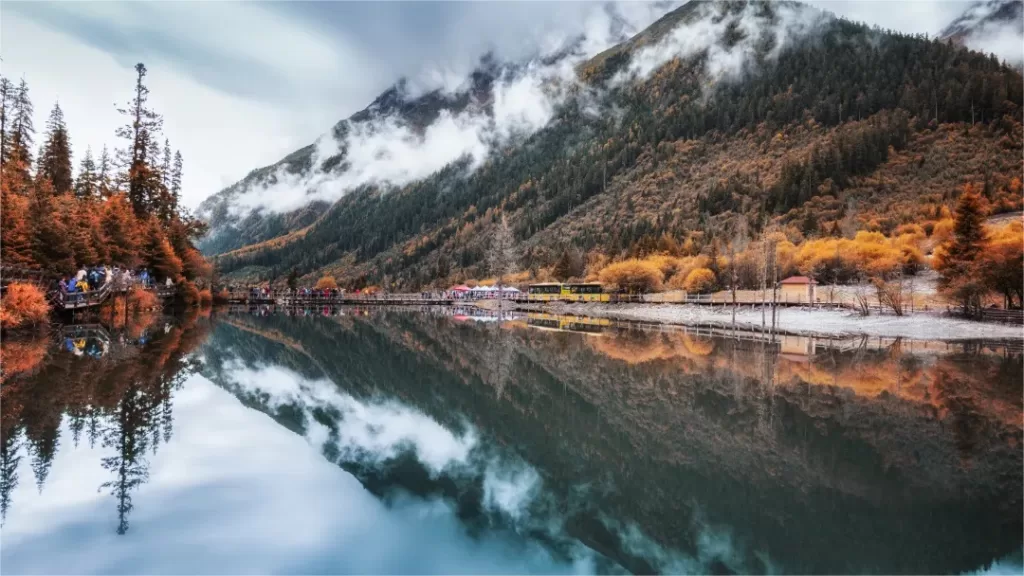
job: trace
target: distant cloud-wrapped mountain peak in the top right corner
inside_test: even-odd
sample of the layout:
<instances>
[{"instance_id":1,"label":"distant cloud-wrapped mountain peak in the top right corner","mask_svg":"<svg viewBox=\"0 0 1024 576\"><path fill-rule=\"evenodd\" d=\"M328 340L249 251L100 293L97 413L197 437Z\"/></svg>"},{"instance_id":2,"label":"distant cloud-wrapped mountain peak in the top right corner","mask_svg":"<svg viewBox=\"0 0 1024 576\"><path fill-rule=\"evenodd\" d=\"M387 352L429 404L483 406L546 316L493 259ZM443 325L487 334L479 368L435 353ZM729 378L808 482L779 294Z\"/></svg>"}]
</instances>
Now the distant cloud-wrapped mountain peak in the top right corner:
<instances>
[{"instance_id":1,"label":"distant cloud-wrapped mountain peak in the top right corner","mask_svg":"<svg viewBox=\"0 0 1024 576\"><path fill-rule=\"evenodd\" d=\"M1024 65L1024 2L985 0L973 2L939 33L975 50L993 52L1020 68Z\"/></svg>"}]
</instances>

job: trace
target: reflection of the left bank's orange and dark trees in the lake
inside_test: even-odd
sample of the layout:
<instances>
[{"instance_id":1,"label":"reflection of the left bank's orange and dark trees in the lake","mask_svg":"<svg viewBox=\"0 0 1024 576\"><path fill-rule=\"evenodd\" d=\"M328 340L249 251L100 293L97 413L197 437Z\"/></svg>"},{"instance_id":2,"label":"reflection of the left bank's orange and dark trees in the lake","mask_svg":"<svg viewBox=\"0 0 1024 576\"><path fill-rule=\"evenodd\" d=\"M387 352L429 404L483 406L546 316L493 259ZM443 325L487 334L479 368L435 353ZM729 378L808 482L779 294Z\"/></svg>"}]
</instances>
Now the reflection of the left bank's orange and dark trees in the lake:
<instances>
[{"instance_id":1,"label":"reflection of the left bank's orange and dark trees in the lake","mask_svg":"<svg viewBox=\"0 0 1024 576\"><path fill-rule=\"evenodd\" d=\"M172 396L195 371L188 354L209 323L193 313L174 321L153 315L117 328L66 328L45 339L5 341L0 414L0 517L6 520L23 453L40 492L61 441L65 418L78 446L114 450L102 458L112 479L99 489L117 499L119 534L127 532L131 492L147 477L146 452L170 440ZM24 450L23 450L24 448Z\"/></svg>"}]
</instances>

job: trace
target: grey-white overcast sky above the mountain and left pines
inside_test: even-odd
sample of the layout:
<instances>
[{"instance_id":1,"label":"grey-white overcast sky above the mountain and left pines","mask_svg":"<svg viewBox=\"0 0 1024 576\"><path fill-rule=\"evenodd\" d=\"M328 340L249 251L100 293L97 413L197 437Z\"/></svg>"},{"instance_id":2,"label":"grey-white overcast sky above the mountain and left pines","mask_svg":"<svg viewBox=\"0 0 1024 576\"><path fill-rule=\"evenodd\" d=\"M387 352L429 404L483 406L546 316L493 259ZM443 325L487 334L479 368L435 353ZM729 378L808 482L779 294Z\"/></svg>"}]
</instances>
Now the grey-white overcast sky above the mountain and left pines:
<instances>
[{"instance_id":1,"label":"grey-white overcast sky above the mountain and left pines","mask_svg":"<svg viewBox=\"0 0 1024 576\"><path fill-rule=\"evenodd\" d=\"M852 19L935 34L966 2L812 2ZM624 2L628 20L670 3ZM137 61L201 200L305 146L400 77L458 83L485 52L515 58L584 32L587 2L12 2L0 7L4 76L25 78L40 130L59 101L78 159L116 147L115 105Z\"/></svg>"}]
</instances>

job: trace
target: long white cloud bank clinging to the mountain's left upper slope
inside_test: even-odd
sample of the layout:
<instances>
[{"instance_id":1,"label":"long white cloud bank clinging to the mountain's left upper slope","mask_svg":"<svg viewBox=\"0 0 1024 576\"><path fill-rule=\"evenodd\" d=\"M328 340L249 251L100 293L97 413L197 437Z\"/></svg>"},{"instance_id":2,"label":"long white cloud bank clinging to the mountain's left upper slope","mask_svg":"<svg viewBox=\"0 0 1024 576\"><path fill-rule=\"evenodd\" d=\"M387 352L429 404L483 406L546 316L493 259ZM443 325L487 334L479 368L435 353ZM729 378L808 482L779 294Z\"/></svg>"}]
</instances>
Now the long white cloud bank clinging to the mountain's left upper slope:
<instances>
[{"instance_id":1,"label":"long white cloud bank clinging to the mountain's left upper slope","mask_svg":"<svg viewBox=\"0 0 1024 576\"><path fill-rule=\"evenodd\" d=\"M580 63L636 34L669 7L648 3L589 8L575 33L550 31L542 36L542 49L525 64L504 68L485 101L473 102L461 112L442 111L425 128L395 116L349 122L340 141L330 133L321 136L311 170L293 174L280 169L232 199L231 213L244 217L258 210L288 212L313 201L335 202L366 186L402 187L460 160L472 171L495 149L550 123L572 88L579 87L575 67ZM427 68L404 83L403 97L413 99L433 91L441 96L459 95L469 88L471 72ZM340 153L343 162L325 169L323 161Z\"/></svg>"}]
</instances>

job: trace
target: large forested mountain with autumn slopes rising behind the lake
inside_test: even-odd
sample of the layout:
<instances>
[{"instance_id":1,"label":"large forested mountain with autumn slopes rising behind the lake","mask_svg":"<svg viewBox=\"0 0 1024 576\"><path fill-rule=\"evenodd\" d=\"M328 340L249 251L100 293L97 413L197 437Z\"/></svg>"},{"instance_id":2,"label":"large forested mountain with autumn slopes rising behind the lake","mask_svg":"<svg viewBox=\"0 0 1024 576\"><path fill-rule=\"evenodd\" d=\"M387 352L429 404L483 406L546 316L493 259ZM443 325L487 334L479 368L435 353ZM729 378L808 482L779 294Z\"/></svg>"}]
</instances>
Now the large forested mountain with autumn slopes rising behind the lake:
<instances>
[{"instance_id":1,"label":"large forested mountain with autumn slopes rising behind the lake","mask_svg":"<svg viewBox=\"0 0 1024 576\"><path fill-rule=\"evenodd\" d=\"M587 45L484 63L455 93L399 84L207 200L204 249L233 278L414 288L485 276L502 216L536 271L741 220L824 234L850 206L889 233L1022 169L1020 74L947 42L793 2L690 2Z\"/></svg>"}]
</instances>

